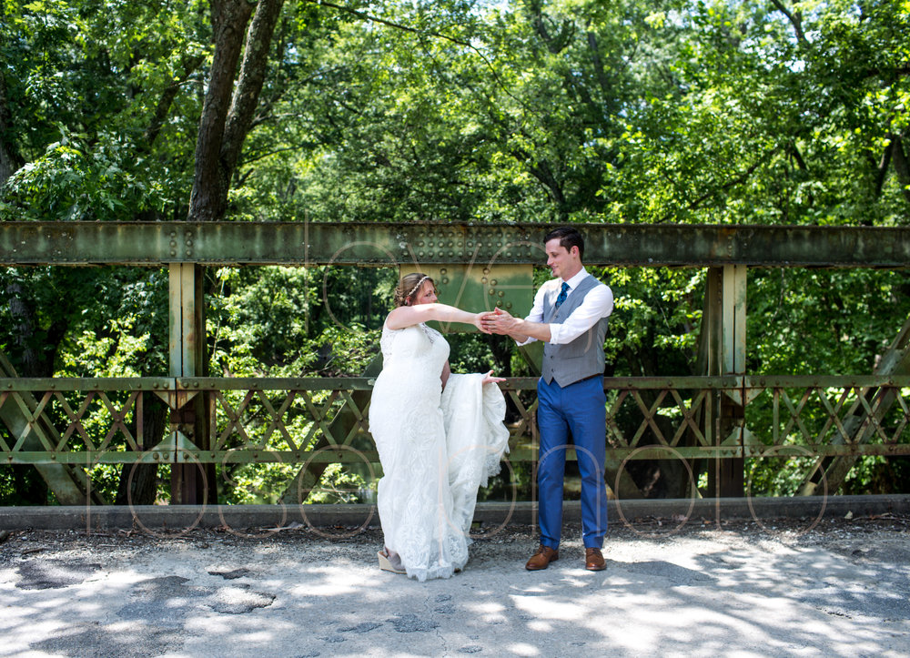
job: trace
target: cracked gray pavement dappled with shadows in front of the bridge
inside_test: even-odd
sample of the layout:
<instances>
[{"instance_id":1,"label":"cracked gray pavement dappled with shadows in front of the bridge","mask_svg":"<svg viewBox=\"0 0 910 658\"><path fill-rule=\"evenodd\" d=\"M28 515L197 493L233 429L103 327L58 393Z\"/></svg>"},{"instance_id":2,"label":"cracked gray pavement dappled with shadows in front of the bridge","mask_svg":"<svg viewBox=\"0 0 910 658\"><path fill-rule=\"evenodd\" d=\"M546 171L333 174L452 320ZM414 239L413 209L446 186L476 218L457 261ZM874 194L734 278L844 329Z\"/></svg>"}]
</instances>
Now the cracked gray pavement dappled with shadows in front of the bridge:
<instances>
[{"instance_id":1,"label":"cracked gray pavement dappled with shadows in front of the bridge","mask_svg":"<svg viewBox=\"0 0 910 658\"><path fill-rule=\"evenodd\" d=\"M910 518L480 529L464 572L381 572L376 528L14 531L0 655L910 656ZM669 529L669 530L668 530Z\"/></svg>"}]
</instances>

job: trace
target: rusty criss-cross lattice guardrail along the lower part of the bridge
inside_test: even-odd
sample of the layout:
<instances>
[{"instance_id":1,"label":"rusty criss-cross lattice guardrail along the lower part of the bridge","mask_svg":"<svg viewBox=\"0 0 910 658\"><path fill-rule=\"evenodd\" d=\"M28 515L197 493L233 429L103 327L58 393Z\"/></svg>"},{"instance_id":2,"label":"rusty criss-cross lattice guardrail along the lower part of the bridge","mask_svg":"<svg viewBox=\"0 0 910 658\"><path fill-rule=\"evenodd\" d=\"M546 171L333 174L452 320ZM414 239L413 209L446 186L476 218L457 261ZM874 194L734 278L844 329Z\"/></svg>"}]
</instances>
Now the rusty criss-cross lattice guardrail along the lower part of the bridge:
<instances>
[{"instance_id":1,"label":"rusty criss-cross lattice guardrail along the lower part of the bridge","mask_svg":"<svg viewBox=\"0 0 910 658\"><path fill-rule=\"evenodd\" d=\"M0 417L6 421L0 462L86 470L97 464L295 464L300 471L286 482L293 500L295 493L318 486L320 469L329 463L367 464L379 472L369 436L372 383L0 379ZM537 459L536 383L518 378L501 385L515 416L509 424L512 464ZM828 478L844 470L844 461L910 455L910 376L608 378L604 388L608 483L614 489L622 488L628 461L797 457L811 462L803 466L803 487L821 492L829 488ZM172 419L204 400L210 445L195 445L192 428L177 422L165 440L148 445L142 435L147 396L163 400ZM723 398L742 408L743 417L719 419L713 408ZM24 421L15 425L11 419ZM301 478L307 476L304 486Z\"/></svg>"}]
</instances>

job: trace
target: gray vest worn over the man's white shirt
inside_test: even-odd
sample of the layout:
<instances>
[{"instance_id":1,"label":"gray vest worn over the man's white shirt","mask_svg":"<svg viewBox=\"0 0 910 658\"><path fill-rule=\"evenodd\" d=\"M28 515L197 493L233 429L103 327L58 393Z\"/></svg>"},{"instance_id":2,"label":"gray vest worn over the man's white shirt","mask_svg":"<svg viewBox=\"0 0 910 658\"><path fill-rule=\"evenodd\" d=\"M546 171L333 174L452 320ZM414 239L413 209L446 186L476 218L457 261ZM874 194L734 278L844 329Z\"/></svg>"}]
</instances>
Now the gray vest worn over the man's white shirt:
<instances>
[{"instance_id":1,"label":"gray vest worn over the man's white shirt","mask_svg":"<svg viewBox=\"0 0 910 658\"><path fill-rule=\"evenodd\" d=\"M571 312L581 306L588 291L600 283L588 275L581 279L578 288L571 291L569 297L556 309L556 298L560 288L554 288L543 298L543 321L547 324L561 324L569 318ZM594 375L603 375L603 337L607 333L607 319L601 318L577 339L565 345L543 345L543 365L541 377L548 384L552 380L561 387L569 386L576 381Z\"/></svg>"}]
</instances>

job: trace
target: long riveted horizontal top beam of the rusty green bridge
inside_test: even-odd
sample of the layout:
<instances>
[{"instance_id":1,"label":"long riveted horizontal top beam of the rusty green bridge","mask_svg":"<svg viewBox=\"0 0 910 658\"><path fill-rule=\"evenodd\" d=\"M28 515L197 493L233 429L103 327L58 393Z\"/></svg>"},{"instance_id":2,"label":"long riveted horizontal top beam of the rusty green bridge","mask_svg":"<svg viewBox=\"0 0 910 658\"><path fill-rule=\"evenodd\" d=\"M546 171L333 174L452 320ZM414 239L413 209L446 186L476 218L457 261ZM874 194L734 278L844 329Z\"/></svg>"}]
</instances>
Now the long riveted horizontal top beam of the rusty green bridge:
<instances>
[{"instance_id":1,"label":"long riveted horizontal top beam of the rusty green bridge","mask_svg":"<svg viewBox=\"0 0 910 658\"><path fill-rule=\"evenodd\" d=\"M542 263L547 224L4 222L0 264ZM591 265L905 268L910 228L579 225Z\"/></svg>"}]
</instances>

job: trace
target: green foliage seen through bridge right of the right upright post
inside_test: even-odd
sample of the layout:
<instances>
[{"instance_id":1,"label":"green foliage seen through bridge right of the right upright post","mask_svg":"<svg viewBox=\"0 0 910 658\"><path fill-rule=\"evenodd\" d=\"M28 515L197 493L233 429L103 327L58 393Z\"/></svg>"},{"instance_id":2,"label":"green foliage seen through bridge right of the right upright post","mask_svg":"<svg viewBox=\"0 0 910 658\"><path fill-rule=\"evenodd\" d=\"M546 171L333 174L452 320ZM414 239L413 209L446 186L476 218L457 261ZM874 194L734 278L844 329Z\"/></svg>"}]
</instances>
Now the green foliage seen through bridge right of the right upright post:
<instances>
[{"instance_id":1,"label":"green foliage seen through bridge right of the right upright post","mask_svg":"<svg viewBox=\"0 0 910 658\"><path fill-rule=\"evenodd\" d=\"M752 374L872 374L878 359L897 335L898 324L910 317L908 279L900 271L860 269L762 270L750 280L748 314L748 371ZM811 337L811 338L810 338ZM799 404L802 390L787 390L793 404ZM830 439L834 427L829 411L819 396L824 395L831 409L838 408L844 390L820 390L802 407L800 420L810 437L820 436L827 427ZM852 397L851 397L852 400ZM747 424L763 430L760 438L771 442L773 400L762 396L746 410ZM790 414L782 404L778 430L784 432ZM895 415L897 414L897 415ZM842 412L843 415L843 412ZM892 435L902 422L896 410L880 419ZM804 445L806 437L799 425L791 424L784 433L784 444ZM874 437L873 442L880 441ZM753 487L770 495L791 495L804 480L814 462L807 458L763 459L748 467ZM841 491L872 493L906 487L891 461L863 458L854 466ZM897 476L891 480L889 476ZM885 484L889 482L889 484Z\"/></svg>"}]
</instances>

